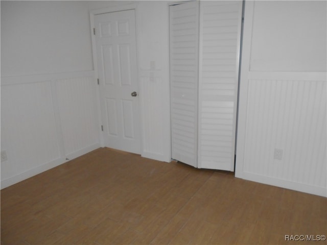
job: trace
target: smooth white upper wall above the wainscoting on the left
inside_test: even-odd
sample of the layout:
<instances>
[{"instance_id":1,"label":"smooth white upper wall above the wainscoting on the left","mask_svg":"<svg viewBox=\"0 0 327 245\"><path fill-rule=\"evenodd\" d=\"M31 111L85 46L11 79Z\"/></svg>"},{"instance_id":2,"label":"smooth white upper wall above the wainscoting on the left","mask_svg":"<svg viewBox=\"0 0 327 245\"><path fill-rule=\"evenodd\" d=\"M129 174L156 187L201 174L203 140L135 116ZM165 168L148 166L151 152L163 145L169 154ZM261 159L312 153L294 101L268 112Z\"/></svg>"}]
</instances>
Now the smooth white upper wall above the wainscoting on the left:
<instances>
[{"instance_id":1,"label":"smooth white upper wall above the wainscoting on the left","mask_svg":"<svg viewBox=\"0 0 327 245\"><path fill-rule=\"evenodd\" d=\"M79 1L2 1L1 76L92 70L88 9Z\"/></svg>"}]
</instances>

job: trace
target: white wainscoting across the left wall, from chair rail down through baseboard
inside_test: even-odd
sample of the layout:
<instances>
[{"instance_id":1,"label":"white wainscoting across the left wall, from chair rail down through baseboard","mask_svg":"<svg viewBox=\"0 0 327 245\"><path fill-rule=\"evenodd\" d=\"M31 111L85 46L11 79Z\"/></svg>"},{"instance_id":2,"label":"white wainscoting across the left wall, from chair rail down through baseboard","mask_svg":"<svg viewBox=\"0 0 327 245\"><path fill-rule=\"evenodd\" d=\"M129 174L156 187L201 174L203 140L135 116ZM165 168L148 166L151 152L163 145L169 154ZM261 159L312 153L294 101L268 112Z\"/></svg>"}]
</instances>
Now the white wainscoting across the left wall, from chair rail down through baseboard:
<instances>
[{"instance_id":1,"label":"white wainscoting across the left wall, from chair rail down through baseboard","mask_svg":"<svg viewBox=\"0 0 327 245\"><path fill-rule=\"evenodd\" d=\"M1 188L97 149L94 71L1 78Z\"/></svg>"}]
</instances>

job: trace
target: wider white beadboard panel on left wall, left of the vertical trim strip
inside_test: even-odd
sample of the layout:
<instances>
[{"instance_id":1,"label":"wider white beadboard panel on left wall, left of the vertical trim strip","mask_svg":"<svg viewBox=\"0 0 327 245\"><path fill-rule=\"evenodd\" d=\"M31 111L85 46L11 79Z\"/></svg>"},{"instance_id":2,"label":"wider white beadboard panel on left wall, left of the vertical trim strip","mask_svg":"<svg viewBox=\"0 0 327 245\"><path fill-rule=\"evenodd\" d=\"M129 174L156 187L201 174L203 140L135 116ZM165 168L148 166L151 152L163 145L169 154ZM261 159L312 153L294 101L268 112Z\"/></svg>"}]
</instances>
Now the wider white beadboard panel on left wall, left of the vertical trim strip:
<instances>
[{"instance_id":1,"label":"wider white beadboard panel on left wall, left of the vertical trim strip","mask_svg":"<svg viewBox=\"0 0 327 245\"><path fill-rule=\"evenodd\" d=\"M24 80L24 78L21 78ZM1 86L1 187L11 177L61 158L51 81Z\"/></svg>"}]
</instances>

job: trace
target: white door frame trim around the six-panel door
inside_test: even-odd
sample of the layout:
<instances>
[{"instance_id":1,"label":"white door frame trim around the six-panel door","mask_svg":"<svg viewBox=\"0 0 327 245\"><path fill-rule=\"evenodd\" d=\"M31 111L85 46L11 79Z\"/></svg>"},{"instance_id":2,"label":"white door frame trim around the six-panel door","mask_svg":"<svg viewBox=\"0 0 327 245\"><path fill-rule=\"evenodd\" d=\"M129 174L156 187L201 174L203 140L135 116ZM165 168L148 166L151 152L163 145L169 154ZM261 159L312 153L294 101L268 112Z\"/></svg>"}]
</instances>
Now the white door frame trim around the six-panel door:
<instances>
[{"instance_id":1,"label":"white door frame trim around the six-panel door","mask_svg":"<svg viewBox=\"0 0 327 245\"><path fill-rule=\"evenodd\" d=\"M121 6L115 6L115 7L108 7L108 8L101 8L101 9L96 9L96 10L91 10L89 12L90 15L90 33L91 33L91 43L92 43L92 58L93 58L93 64L94 64L94 71L95 71L95 78L99 78L98 74L98 62L97 62L97 46L96 46L96 36L94 35L94 28L95 28L95 15L98 14L105 14L105 13L111 13L111 12L118 12L118 11L125 11L125 10L134 10L135 11L135 31L136 31L136 60L137 60L137 68L136 68L136 80L137 80L137 86L139 88L139 55L138 55L138 28L137 28L137 4L128 4L128 5L121 5ZM140 90L140 89L138 89ZM139 94L139 92L138 92ZM99 138L100 138L100 145L101 147L104 147L104 136L102 134L101 130L101 125L103 125L102 121L102 115L101 115L101 101L100 101L100 90L99 87L97 89L97 100L98 100L98 120L100 121L99 125ZM141 108L141 103L138 103L139 106L139 132L140 132L140 143L141 143L141 152L140 154L142 155L143 153L143 132L142 132L142 108Z\"/></svg>"}]
</instances>

